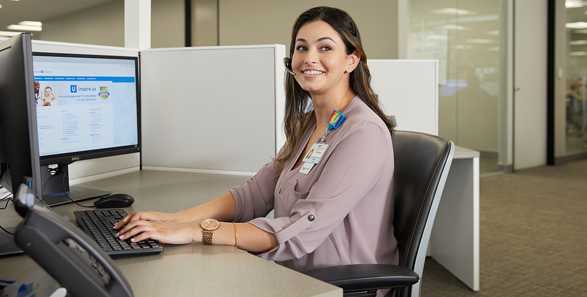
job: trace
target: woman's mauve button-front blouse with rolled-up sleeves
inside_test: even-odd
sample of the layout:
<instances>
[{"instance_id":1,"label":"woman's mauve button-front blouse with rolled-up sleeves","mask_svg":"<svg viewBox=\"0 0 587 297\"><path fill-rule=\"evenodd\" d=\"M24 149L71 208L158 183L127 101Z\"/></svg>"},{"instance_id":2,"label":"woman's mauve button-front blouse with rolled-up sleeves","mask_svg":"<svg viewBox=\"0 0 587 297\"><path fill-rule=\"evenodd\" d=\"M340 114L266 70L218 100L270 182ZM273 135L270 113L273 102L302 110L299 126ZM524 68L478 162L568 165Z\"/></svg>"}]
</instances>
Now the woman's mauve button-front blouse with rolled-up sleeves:
<instances>
[{"instance_id":1,"label":"woman's mauve button-front blouse with rolled-up sleeves","mask_svg":"<svg viewBox=\"0 0 587 297\"><path fill-rule=\"evenodd\" d=\"M235 222L275 234L278 246L258 255L296 271L360 263L397 264L393 236L393 148L383 121L358 97L308 175L292 168L316 128L302 136L277 180L274 163L230 192ZM303 165L303 164L302 164ZM265 218L275 208L275 218Z\"/></svg>"}]
</instances>

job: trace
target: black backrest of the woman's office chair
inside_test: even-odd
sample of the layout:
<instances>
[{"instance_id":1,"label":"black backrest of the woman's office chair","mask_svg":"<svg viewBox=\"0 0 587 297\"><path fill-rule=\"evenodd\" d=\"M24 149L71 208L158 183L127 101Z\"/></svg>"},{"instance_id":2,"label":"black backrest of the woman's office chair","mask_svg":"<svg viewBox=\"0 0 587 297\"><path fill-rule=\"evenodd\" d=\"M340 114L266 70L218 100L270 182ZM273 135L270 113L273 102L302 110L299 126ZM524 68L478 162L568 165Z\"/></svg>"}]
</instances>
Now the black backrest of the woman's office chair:
<instances>
[{"instance_id":1,"label":"black backrest of the woman's office chair","mask_svg":"<svg viewBox=\"0 0 587 297\"><path fill-rule=\"evenodd\" d=\"M417 252L450 142L420 132L396 131L394 153L393 228L399 265L414 269Z\"/></svg>"}]
</instances>

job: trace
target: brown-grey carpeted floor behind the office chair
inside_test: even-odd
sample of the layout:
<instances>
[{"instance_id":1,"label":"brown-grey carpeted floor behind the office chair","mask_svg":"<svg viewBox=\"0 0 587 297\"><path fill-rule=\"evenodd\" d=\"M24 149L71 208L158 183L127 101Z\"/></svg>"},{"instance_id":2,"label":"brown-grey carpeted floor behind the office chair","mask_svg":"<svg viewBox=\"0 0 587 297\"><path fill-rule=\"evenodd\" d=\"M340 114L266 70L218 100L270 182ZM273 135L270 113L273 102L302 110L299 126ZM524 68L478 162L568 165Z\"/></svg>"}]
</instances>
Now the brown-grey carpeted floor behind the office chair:
<instances>
[{"instance_id":1,"label":"brown-grey carpeted floor behind the office chair","mask_svg":"<svg viewBox=\"0 0 587 297\"><path fill-rule=\"evenodd\" d=\"M480 291L434 259L421 296L587 296L587 160L480 181Z\"/></svg>"}]
</instances>

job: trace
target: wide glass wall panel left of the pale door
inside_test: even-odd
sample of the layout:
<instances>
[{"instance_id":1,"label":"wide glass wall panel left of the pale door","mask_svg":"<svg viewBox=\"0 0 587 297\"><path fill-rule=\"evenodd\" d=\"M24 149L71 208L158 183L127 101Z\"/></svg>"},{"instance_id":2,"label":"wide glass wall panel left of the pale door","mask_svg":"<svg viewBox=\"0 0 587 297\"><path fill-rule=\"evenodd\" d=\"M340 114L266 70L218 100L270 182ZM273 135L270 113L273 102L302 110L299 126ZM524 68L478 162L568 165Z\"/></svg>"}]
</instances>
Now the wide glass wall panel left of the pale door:
<instances>
[{"instance_id":1,"label":"wide glass wall panel left of the pale door","mask_svg":"<svg viewBox=\"0 0 587 297\"><path fill-rule=\"evenodd\" d=\"M438 134L500 171L500 0L409 0L407 58L438 59ZM504 70L505 73L505 70Z\"/></svg>"}]
</instances>

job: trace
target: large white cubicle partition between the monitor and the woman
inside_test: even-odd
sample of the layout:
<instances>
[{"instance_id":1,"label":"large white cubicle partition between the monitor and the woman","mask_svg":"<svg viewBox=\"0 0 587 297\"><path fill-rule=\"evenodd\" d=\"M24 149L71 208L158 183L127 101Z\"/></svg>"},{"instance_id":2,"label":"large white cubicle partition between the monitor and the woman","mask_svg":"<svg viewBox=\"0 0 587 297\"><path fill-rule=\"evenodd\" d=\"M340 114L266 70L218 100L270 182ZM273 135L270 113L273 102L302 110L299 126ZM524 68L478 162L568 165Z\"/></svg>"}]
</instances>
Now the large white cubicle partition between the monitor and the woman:
<instances>
[{"instance_id":1,"label":"large white cubicle partition between the monitor and the woman","mask_svg":"<svg viewBox=\"0 0 587 297\"><path fill-rule=\"evenodd\" d=\"M252 175L271 161L284 56L284 45L141 51L143 168Z\"/></svg>"}]
</instances>

